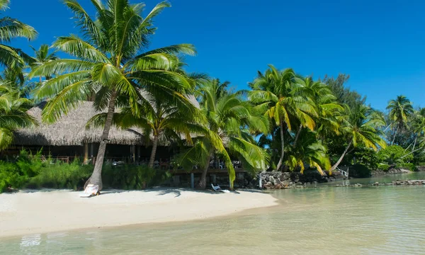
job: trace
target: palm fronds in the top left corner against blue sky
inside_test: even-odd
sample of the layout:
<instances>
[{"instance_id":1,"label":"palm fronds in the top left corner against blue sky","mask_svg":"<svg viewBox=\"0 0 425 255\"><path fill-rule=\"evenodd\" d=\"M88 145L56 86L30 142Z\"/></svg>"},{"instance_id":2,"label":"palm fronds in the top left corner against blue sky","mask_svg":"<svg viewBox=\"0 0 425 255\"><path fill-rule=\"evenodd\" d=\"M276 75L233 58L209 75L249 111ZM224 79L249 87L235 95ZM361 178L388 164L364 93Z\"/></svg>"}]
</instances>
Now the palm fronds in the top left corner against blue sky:
<instances>
[{"instance_id":1,"label":"palm fronds in the top left corner against blue sky","mask_svg":"<svg viewBox=\"0 0 425 255\"><path fill-rule=\"evenodd\" d=\"M5 11L8 8L10 1L1 0L0 10ZM25 63L30 62L30 57L22 50L5 45L11 42L14 38L28 38L33 40L37 32L26 23L18 21L16 18L3 17L0 18L0 64L23 81L22 69ZM13 79L14 81L15 79Z\"/></svg>"}]
</instances>

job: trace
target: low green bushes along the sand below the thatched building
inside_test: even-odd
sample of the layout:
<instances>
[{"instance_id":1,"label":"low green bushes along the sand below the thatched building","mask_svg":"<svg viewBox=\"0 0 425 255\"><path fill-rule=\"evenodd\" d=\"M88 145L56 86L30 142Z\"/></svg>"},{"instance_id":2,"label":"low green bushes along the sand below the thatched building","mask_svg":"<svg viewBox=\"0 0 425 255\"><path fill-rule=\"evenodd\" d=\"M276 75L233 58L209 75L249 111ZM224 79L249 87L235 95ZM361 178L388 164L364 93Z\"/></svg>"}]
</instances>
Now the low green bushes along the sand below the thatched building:
<instances>
[{"instance_id":1,"label":"low green bushes along the sand below the thatched building","mask_svg":"<svg viewBox=\"0 0 425 255\"><path fill-rule=\"evenodd\" d=\"M72 188L81 189L93 172L93 165L81 165L78 159L71 164L42 159L41 151L33 155L21 151L14 162L0 162L0 193L8 188ZM104 188L139 190L162 183L170 175L167 171L148 169L147 166L103 165Z\"/></svg>"}]
</instances>

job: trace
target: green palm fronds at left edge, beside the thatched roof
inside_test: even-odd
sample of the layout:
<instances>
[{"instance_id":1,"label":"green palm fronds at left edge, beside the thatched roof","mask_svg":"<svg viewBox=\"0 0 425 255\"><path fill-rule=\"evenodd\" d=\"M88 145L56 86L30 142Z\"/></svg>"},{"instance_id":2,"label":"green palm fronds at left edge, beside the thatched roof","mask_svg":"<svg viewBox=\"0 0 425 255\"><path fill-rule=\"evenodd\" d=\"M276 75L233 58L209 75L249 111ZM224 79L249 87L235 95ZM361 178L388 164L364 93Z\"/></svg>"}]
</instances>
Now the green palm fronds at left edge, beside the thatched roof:
<instances>
[{"instance_id":1,"label":"green palm fronds at left edge, beside the thatched roof","mask_svg":"<svg viewBox=\"0 0 425 255\"><path fill-rule=\"evenodd\" d=\"M30 103L29 99L21 98L14 84L0 81L0 151L13 142L13 130L37 124L26 112Z\"/></svg>"}]
</instances>

